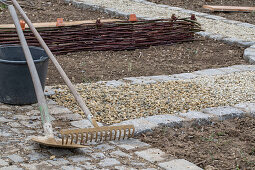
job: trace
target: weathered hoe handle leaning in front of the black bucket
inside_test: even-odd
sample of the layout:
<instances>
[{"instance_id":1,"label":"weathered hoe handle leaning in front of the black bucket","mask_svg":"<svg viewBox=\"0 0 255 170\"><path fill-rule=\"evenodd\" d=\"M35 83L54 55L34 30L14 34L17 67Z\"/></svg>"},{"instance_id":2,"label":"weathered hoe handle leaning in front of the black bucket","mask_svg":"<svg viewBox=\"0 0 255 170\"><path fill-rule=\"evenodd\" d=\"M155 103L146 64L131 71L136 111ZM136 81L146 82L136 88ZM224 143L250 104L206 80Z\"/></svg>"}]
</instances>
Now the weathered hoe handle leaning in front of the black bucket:
<instances>
[{"instance_id":1,"label":"weathered hoe handle leaning in front of the black bucket","mask_svg":"<svg viewBox=\"0 0 255 170\"><path fill-rule=\"evenodd\" d=\"M25 54L26 60L27 60L27 64L28 64L28 68L32 77L32 81L34 84L34 88L35 88L35 93L36 93L36 97L38 100L38 104L39 104L39 110L41 112L41 117L42 117L42 123L43 123L43 128L44 128L44 133L45 136L53 136L53 130L52 130L52 125L50 122L50 115L49 115L49 111L48 111L48 107L47 107L47 103L46 103L46 99L44 97L44 93L43 93L43 88L31 55L31 52L29 50L29 47L27 45L27 41L25 39L25 36L23 34L23 31L21 29L20 23L19 23L19 19L17 16L17 13L15 11L15 8L12 5L8 6L8 9L10 11L10 14L12 16L12 19L14 21L14 25L16 27L19 39L20 39L20 43L23 49L23 52Z\"/></svg>"}]
</instances>

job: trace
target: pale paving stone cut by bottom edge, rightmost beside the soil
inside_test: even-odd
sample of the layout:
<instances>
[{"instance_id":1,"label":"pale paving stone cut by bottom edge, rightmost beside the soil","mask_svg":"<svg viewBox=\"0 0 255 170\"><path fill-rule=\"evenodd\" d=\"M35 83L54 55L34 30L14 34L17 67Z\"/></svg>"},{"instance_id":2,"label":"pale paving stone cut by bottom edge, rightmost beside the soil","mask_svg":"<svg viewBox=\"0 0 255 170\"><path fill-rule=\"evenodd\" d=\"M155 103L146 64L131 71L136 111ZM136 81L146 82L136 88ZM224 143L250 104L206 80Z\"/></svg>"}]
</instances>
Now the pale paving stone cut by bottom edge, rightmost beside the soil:
<instances>
[{"instance_id":1,"label":"pale paving stone cut by bottom edge, rightmost beside the soil","mask_svg":"<svg viewBox=\"0 0 255 170\"><path fill-rule=\"evenodd\" d=\"M185 159L174 159L169 162L163 162L158 164L161 168L167 169L167 170L202 170L202 168L199 168L195 164L186 161Z\"/></svg>"}]
</instances>

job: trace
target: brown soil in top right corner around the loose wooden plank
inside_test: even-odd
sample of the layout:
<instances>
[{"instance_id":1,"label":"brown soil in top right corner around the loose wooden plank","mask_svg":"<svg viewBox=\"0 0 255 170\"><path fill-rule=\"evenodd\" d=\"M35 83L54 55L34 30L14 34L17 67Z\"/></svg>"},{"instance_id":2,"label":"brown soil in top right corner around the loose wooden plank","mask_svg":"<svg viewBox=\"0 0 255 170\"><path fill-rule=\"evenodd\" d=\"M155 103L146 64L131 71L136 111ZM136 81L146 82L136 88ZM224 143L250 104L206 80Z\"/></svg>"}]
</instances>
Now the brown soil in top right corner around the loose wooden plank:
<instances>
[{"instance_id":1,"label":"brown soil in top right corner around the loose wooden plank","mask_svg":"<svg viewBox=\"0 0 255 170\"><path fill-rule=\"evenodd\" d=\"M255 12L210 12L207 9L202 8L203 5L219 5L219 6L246 6L254 7L254 0L148 0L158 4L165 4L169 6L180 7L197 12L209 13L212 15L218 15L231 20L237 20L241 22L248 22L255 24Z\"/></svg>"}]
</instances>

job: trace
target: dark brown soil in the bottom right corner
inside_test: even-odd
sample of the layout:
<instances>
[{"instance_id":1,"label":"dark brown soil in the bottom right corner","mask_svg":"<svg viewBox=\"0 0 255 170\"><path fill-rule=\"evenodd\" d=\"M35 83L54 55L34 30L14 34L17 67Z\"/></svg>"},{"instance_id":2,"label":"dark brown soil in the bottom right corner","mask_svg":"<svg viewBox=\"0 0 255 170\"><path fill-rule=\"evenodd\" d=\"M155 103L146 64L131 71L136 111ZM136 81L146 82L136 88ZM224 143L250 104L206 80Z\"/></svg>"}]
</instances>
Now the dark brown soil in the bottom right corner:
<instances>
[{"instance_id":1,"label":"dark brown soil in the bottom right corner","mask_svg":"<svg viewBox=\"0 0 255 170\"><path fill-rule=\"evenodd\" d=\"M255 119L236 118L207 126L163 127L142 134L143 142L201 168L255 169Z\"/></svg>"}]
</instances>

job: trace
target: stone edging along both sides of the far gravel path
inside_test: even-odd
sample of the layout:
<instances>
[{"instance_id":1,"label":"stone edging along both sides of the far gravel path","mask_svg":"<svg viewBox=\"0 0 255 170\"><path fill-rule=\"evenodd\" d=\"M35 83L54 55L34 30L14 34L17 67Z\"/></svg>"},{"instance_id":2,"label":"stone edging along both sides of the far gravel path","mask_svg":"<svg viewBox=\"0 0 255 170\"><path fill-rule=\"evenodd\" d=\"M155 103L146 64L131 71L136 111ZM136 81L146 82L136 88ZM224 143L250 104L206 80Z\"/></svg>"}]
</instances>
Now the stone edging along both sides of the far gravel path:
<instances>
[{"instance_id":1,"label":"stone edging along both sides of the far gravel path","mask_svg":"<svg viewBox=\"0 0 255 170\"><path fill-rule=\"evenodd\" d=\"M221 20L222 22L225 23L230 23L230 24L234 24L237 26L242 26L242 27L247 27L247 28L255 28L255 25L253 24L249 24L249 23L244 23L244 22L240 22L240 21L235 21L235 20L229 20L226 19L224 17L220 17L220 16L215 16L215 15L209 15L206 13L201 13L201 12L196 12L196 11L192 11L192 10L186 10L183 8L179 8L179 7L171 7L168 5L160 5L160 4L156 4L153 2L148 2L146 0L132 0L135 2L140 2L143 4L150 4L150 5L157 5L159 7L163 7L163 8L168 8L170 10L176 10L182 13L187 13L187 14L195 14L197 16L206 18L206 19L212 19L212 20ZM92 9L92 10L99 10L101 12L105 12L107 14L113 15L113 16L124 16L124 17L128 17L130 14L129 13L125 13L125 12L121 12L121 11L116 11L114 9L111 8L103 8L101 6L98 5L93 5L93 4L88 4L88 3L83 3L83 2L78 2L76 0L65 0L66 3L72 3L72 5L74 5L77 8L82 8L82 9ZM137 16L140 19L145 19L145 20L150 20L150 19L157 19L157 18L147 18L147 17L143 17L143 16ZM232 37L226 37L220 34L213 34L210 32L198 32L197 33L200 36L204 36L204 37L208 37L211 39L215 39L215 40L220 40L223 41L227 44L237 44L240 46L244 46L244 47L248 47L247 49L245 49L244 54L243 54L243 58L249 62L250 64L255 64L255 42L254 41L243 41L241 39L237 39L237 38L232 38Z\"/></svg>"}]
</instances>

